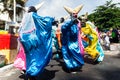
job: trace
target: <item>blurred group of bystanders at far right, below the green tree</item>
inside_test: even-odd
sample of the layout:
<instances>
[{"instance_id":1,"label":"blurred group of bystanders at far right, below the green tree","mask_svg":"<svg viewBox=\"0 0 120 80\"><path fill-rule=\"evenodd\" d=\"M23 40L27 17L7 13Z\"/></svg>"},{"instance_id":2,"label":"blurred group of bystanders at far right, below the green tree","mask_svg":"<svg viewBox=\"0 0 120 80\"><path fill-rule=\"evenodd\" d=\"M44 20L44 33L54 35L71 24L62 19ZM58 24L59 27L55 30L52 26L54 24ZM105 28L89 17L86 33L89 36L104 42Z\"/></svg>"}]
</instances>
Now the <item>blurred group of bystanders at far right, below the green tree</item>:
<instances>
[{"instance_id":1,"label":"blurred group of bystanders at far right, below the green tree","mask_svg":"<svg viewBox=\"0 0 120 80\"><path fill-rule=\"evenodd\" d=\"M104 50L110 50L110 44L120 42L120 30L111 28L100 32L100 43L103 46Z\"/></svg>"}]
</instances>

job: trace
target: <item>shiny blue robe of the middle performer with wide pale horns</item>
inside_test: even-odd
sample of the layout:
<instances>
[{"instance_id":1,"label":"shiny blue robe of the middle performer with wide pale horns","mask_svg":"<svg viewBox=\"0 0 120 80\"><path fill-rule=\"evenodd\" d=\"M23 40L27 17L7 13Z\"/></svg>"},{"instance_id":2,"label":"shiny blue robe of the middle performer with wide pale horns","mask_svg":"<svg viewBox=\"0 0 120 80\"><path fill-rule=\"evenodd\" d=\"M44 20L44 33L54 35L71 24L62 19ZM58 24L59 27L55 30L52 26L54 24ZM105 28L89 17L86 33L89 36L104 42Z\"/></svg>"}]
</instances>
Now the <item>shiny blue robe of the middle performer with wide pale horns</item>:
<instances>
[{"instance_id":1,"label":"shiny blue robe of the middle performer with wide pale horns","mask_svg":"<svg viewBox=\"0 0 120 80\"><path fill-rule=\"evenodd\" d=\"M78 25L71 20L62 25L62 54L68 69L84 64L78 43Z\"/></svg>"}]
</instances>

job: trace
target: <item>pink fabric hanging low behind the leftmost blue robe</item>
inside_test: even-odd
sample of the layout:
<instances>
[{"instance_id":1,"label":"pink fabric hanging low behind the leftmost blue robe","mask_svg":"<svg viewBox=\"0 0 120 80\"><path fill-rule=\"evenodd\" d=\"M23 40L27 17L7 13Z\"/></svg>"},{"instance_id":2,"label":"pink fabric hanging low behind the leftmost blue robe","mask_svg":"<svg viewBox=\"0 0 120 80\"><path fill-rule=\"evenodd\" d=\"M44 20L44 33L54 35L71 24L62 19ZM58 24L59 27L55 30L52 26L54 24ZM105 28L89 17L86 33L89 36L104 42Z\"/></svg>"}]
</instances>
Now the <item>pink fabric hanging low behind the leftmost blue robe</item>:
<instances>
[{"instance_id":1,"label":"pink fabric hanging low behind the leftmost blue robe","mask_svg":"<svg viewBox=\"0 0 120 80\"><path fill-rule=\"evenodd\" d=\"M20 69L20 70L26 70L26 56L24 52L24 48L22 44L19 42L20 48L18 51L18 55L16 56L16 59L14 61L14 67Z\"/></svg>"}]
</instances>

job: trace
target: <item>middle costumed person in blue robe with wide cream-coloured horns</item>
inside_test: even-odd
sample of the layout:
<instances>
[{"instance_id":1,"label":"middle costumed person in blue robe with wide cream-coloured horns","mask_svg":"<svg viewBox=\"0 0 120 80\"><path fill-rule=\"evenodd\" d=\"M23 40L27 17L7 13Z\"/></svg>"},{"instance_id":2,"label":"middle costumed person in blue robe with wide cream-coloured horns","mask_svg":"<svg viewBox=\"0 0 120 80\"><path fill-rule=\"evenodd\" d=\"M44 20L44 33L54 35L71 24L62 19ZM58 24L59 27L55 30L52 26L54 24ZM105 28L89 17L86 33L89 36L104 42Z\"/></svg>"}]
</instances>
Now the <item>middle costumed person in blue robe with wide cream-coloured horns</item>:
<instances>
[{"instance_id":1,"label":"middle costumed person in blue robe with wide cream-coloured horns","mask_svg":"<svg viewBox=\"0 0 120 80\"><path fill-rule=\"evenodd\" d=\"M69 71L75 72L84 65L79 46L79 20L77 14L83 5L79 5L75 9L64 6L64 9L70 14L70 19L66 20L61 27L62 31L62 54L66 67Z\"/></svg>"}]
</instances>

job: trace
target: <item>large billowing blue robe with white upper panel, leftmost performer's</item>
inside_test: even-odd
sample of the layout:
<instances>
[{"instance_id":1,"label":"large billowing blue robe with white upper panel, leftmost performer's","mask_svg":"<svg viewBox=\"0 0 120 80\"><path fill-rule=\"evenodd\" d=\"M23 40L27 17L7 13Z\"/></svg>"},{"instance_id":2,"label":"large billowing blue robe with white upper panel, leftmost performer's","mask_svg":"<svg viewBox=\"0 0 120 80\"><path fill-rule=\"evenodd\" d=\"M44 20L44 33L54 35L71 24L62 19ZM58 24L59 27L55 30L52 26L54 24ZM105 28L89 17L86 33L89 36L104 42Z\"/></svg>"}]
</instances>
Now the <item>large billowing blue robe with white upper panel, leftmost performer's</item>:
<instances>
[{"instance_id":1,"label":"large billowing blue robe with white upper panel, leftmost performer's","mask_svg":"<svg viewBox=\"0 0 120 80\"><path fill-rule=\"evenodd\" d=\"M20 41L26 53L26 73L37 76L52 57L51 17L41 17L37 13L27 13L20 29Z\"/></svg>"}]
</instances>

